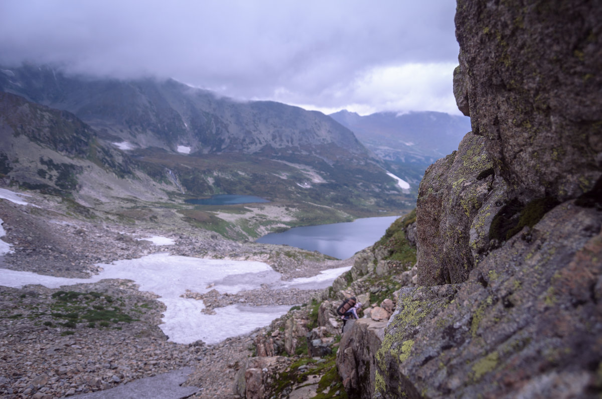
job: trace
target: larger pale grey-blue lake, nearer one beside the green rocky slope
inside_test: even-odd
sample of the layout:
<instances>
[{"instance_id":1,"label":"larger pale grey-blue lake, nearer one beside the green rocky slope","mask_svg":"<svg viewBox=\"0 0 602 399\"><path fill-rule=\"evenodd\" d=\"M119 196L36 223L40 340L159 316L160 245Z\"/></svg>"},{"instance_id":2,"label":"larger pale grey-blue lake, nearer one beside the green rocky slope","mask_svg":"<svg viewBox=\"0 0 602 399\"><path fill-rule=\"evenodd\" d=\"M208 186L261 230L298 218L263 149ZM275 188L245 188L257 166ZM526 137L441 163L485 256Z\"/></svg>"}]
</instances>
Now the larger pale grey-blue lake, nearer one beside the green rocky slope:
<instances>
[{"instance_id":1,"label":"larger pale grey-blue lake, nearer one beside the green rocky slope","mask_svg":"<svg viewBox=\"0 0 602 399\"><path fill-rule=\"evenodd\" d=\"M370 247L385 235L399 216L363 218L353 222L294 227L284 233L270 233L256 242L286 244L308 251L318 251L338 259L347 259Z\"/></svg>"}]
</instances>

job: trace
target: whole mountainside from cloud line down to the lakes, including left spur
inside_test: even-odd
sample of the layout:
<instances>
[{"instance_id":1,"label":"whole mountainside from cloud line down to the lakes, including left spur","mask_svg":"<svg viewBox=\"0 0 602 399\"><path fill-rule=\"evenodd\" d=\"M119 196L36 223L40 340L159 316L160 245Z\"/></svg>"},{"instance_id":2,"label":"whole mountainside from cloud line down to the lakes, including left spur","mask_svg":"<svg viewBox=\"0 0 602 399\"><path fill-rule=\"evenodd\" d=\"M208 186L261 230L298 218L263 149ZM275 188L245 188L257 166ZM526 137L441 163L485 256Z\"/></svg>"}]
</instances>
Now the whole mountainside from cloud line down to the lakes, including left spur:
<instances>
[{"instance_id":1,"label":"whole mountainside from cloud line down to the lakes, including left spur","mask_svg":"<svg viewBox=\"0 0 602 399\"><path fill-rule=\"evenodd\" d=\"M352 131L319 112L219 98L174 80L75 77L49 66L2 68L0 90L5 179L95 209L169 200L191 224L249 238L414 206L417 187L400 187ZM285 215L232 227L229 216L184 206L221 193L262 196Z\"/></svg>"}]
</instances>

